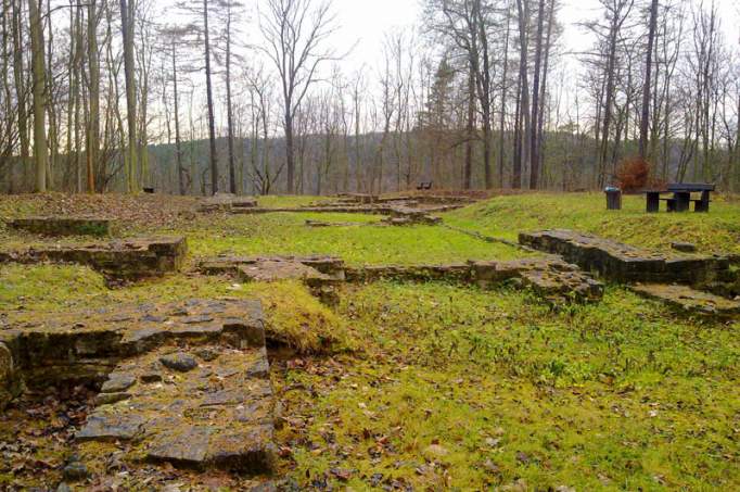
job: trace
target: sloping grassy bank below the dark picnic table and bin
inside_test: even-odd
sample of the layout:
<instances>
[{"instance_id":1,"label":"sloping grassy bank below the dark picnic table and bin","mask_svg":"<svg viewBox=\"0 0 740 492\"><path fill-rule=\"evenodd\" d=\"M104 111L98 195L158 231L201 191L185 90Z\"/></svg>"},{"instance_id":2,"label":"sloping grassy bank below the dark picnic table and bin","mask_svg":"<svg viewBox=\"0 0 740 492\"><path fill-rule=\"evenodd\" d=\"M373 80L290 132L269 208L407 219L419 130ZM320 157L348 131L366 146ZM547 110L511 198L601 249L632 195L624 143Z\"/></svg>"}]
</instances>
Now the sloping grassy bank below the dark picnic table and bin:
<instances>
[{"instance_id":1,"label":"sloping grassy bank below the dark picnic table and bin","mask_svg":"<svg viewBox=\"0 0 740 492\"><path fill-rule=\"evenodd\" d=\"M494 198L444 217L450 225L512 240L520 231L566 228L659 250L688 241L702 252L740 254L740 201L713 198L709 214L647 214L645 195L624 197L622 211L608 211L603 193L533 193Z\"/></svg>"}]
</instances>

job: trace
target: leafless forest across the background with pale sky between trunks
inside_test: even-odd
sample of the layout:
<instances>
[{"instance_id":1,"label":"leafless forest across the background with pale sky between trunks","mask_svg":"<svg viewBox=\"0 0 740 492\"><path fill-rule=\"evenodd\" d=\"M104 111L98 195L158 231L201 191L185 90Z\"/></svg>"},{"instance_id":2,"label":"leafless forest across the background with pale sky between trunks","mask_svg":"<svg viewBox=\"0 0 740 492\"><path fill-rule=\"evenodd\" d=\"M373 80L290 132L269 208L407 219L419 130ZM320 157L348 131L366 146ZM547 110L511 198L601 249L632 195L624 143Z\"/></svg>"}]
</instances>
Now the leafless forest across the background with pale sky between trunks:
<instances>
[{"instance_id":1,"label":"leafless forest across the background with pale sky between trunks","mask_svg":"<svg viewBox=\"0 0 740 492\"><path fill-rule=\"evenodd\" d=\"M578 52L559 0L423 4L345 73L331 2L2 0L0 190L575 190L635 157L740 190L714 3L599 0Z\"/></svg>"}]
</instances>

